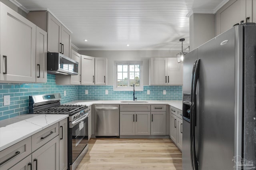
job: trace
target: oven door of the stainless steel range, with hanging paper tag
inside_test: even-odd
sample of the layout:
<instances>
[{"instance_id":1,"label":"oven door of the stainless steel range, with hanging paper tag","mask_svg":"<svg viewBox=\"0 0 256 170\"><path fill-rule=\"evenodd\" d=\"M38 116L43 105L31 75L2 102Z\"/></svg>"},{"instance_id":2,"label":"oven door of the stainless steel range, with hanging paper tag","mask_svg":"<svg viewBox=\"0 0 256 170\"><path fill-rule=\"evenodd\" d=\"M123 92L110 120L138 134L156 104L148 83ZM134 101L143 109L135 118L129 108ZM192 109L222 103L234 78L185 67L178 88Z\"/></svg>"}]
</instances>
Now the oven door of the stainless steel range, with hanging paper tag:
<instances>
[{"instance_id":1,"label":"oven door of the stainless steel range, with hanging paper tag","mask_svg":"<svg viewBox=\"0 0 256 170\"><path fill-rule=\"evenodd\" d=\"M73 164L88 144L88 114L70 122L70 164Z\"/></svg>"}]
</instances>

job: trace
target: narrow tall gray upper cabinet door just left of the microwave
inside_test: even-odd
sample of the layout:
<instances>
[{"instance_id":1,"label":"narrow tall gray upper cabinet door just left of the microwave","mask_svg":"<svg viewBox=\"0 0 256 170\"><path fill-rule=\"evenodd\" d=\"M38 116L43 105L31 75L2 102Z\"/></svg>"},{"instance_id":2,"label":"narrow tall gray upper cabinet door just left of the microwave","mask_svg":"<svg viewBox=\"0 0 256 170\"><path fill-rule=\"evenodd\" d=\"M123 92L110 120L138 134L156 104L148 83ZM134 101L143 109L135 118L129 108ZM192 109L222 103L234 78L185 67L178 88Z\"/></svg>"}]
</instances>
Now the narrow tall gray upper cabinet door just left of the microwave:
<instances>
[{"instance_id":1,"label":"narrow tall gray upper cabinet door just left of the microwave","mask_svg":"<svg viewBox=\"0 0 256 170\"><path fill-rule=\"evenodd\" d=\"M47 82L47 32L36 27L36 82Z\"/></svg>"}]
</instances>

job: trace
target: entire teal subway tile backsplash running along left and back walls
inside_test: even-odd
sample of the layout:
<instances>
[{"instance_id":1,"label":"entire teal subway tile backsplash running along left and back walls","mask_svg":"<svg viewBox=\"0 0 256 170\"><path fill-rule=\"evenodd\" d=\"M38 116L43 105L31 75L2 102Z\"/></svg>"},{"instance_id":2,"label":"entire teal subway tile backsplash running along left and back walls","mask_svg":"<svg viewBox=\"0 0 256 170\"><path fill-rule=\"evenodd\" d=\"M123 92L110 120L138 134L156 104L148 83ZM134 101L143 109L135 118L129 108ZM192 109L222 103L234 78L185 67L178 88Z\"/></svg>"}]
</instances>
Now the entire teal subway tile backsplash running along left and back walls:
<instances>
[{"instance_id":1,"label":"entire teal subway tile backsplash running along left and back walls","mask_svg":"<svg viewBox=\"0 0 256 170\"><path fill-rule=\"evenodd\" d=\"M64 90L66 96L64 96ZM88 90L88 95L85 94ZM108 90L108 95L105 95ZM150 95L147 94L150 90ZM163 95L166 90L166 95ZM113 86L56 85L55 75L47 75L47 83L0 83L0 120L27 114L30 95L60 93L61 104L76 100L132 100L132 91L114 91ZM10 95L10 105L4 106L3 97ZM182 86L144 86L136 91L138 100L182 100Z\"/></svg>"}]
</instances>

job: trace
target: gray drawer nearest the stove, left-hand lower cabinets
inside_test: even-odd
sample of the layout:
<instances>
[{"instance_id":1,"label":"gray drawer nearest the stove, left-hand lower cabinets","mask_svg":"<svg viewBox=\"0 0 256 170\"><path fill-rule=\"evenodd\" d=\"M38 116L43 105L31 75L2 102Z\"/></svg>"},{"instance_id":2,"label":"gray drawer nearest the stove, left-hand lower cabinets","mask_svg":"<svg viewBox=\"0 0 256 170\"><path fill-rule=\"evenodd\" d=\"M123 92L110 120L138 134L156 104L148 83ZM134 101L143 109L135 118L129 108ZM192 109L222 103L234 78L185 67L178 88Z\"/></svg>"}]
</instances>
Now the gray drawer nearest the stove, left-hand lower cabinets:
<instances>
[{"instance_id":1,"label":"gray drawer nearest the stove, left-hand lower cabinets","mask_svg":"<svg viewBox=\"0 0 256 170\"><path fill-rule=\"evenodd\" d=\"M46 144L59 134L59 123L56 123L40 132L32 135L32 152Z\"/></svg>"}]
</instances>

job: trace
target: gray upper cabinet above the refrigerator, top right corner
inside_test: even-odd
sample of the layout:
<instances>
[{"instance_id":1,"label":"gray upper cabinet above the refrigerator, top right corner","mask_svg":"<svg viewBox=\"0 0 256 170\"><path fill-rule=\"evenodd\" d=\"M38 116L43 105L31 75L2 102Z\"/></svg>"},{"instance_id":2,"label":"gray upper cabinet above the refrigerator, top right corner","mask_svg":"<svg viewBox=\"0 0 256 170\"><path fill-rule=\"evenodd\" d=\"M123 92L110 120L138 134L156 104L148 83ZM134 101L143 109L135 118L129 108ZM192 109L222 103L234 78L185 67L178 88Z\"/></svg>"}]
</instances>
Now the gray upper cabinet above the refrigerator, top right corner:
<instances>
[{"instance_id":1,"label":"gray upper cabinet above the refrigerator, top right corner","mask_svg":"<svg viewBox=\"0 0 256 170\"><path fill-rule=\"evenodd\" d=\"M255 22L256 0L230 0L216 12L216 36L235 24Z\"/></svg>"}]
</instances>

